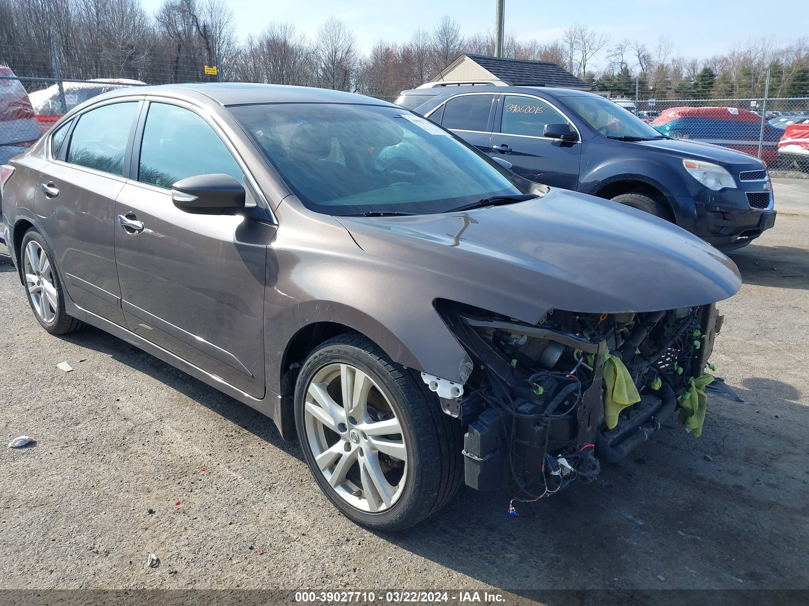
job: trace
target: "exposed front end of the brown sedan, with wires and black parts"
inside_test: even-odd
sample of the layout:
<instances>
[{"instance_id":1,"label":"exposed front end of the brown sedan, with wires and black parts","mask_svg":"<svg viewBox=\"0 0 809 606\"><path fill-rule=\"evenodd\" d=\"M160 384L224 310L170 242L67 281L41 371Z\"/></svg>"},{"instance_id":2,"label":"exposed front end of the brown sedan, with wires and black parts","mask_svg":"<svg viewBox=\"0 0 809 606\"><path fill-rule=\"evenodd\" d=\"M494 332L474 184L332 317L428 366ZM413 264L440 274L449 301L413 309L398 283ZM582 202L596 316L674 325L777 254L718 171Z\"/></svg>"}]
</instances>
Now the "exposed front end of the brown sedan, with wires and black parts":
<instances>
[{"instance_id":1,"label":"exposed front end of the brown sedan, with wires and black parts","mask_svg":"<svg viewBox=\"0 0 809 606\"><path fill-rule=\"evenodd\" d=\"M466 483L498 490L515 482L523 501L577 478L590 482L601 461L621 461L648 440L702 374L722 326L713 304L626 314L552 309L536 325L447 301L436 306L472 359L463 395L440 398L467 429ZM640 401L608 428L611 356Z\"/></svg>"}]
</instances>

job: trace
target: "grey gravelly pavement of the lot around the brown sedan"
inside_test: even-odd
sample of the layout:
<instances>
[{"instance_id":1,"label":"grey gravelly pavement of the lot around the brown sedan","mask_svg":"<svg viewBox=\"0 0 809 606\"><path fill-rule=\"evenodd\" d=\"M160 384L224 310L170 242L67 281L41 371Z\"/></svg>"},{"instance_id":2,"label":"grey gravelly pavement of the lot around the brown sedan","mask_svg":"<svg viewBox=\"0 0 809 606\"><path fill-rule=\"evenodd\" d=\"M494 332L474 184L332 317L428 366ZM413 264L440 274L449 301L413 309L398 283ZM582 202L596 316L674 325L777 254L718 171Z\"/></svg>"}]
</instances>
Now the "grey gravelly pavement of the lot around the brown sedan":
<instances>
[{"instance_id":1,"label":"grey gravelly pavement of the lot around the brown sedan","mask_svg":"<svg viewBox=\"0 0 809 606\"><path fill-rule=\"evenodd\" d=\"M774 187L712 358L743 403L518 519L464 487L393 536L338 514L248 406L95 328L46 334L0 264L0 587L807 590L809 183Z\"/></svg>"}]
</instances>

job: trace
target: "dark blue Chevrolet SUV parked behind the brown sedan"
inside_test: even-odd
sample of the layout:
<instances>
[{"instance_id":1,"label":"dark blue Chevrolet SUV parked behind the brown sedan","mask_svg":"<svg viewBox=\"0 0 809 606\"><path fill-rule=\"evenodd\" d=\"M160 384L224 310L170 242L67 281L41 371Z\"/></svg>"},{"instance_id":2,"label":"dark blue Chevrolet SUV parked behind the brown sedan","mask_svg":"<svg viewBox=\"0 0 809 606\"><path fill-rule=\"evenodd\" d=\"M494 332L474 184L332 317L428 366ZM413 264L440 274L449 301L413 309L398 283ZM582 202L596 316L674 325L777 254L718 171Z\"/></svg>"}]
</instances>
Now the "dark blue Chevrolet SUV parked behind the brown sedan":
<instances>
[{"instance_id":1,"label":"dark blue Chevrolet SUV parked behind the brown sedan","mask_svg":"<svg viewBox=\"0 0 809 606\"><path fill-rule=\"evenodd\" d=\"M400 103L410 100L409 92ZM665 137L599 95L455 86L413 111L491 158L510 162L526 179L640 208L720 250L746 246L775 224L764 162L718 145Z\"/></svg>"}]
</instances>

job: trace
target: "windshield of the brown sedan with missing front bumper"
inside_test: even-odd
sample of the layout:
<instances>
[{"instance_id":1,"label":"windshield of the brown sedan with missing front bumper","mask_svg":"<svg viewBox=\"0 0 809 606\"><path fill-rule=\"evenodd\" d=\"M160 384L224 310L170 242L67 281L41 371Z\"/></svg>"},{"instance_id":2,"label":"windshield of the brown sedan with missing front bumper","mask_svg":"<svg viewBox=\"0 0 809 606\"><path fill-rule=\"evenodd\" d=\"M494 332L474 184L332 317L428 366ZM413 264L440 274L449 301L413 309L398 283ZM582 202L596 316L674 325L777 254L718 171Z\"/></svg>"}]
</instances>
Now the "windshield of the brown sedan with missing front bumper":
<instances>
[{"instance_id":1,"label":"windshield of the brown sedan with missing front bumper","mask_svg":"<svg viewBox=\"0 0 809 606\"><path fill-rule=\"evenodd\" d=\"M398 107L265 103L228 109L301 202L318 213L444 213L522 193L505 169Z\"/></svg>"}]
</instances>

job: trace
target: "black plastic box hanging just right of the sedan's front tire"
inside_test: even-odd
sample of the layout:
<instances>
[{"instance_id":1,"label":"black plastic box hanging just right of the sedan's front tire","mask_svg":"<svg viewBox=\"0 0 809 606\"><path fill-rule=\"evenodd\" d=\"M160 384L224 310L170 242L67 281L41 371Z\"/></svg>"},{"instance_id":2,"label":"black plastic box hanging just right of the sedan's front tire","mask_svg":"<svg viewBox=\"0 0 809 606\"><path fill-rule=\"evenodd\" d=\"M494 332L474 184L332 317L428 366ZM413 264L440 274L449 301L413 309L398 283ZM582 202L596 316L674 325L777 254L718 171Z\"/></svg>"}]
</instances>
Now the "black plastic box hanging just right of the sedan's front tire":
<instances>
[{"instance_id":1,"label":"black plastic box hanging just right of the sedan's front tire","mask_svg":"<svg viewBox=\"0 0 809 606\"><path fill-rule=\"evenodd\" d=\"M500 490L510 478L506 463L506 425L511 423L502 410L484 410L469 424L464 436L464 473L468 486L476 490Z\"/></svg>"}]
</instances>

